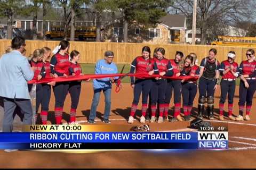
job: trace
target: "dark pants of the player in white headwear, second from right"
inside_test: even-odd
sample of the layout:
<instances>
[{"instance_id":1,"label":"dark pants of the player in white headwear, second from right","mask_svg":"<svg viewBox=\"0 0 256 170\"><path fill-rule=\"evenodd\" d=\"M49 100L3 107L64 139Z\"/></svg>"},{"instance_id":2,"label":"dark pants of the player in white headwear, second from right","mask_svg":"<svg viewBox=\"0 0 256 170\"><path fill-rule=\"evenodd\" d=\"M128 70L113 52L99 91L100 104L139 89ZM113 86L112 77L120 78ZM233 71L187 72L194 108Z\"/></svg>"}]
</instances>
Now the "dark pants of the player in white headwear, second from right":
<instances>
[{"instance_id":1,"label":"dark pants of the player in white headwear, second from right","mask_svg":"<svg viewBox=\"0 0 256 170\"><path fill-rule=\"evenodd\" d=\"M235 89L236 89L235 80L227 81L222 79L220 82L220 90L221 90L220 104L225 103L227 94L228 94L228 103L233 104Z\"/></svg>"}]
</instances>

